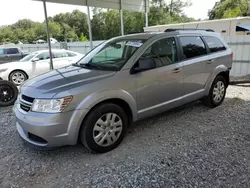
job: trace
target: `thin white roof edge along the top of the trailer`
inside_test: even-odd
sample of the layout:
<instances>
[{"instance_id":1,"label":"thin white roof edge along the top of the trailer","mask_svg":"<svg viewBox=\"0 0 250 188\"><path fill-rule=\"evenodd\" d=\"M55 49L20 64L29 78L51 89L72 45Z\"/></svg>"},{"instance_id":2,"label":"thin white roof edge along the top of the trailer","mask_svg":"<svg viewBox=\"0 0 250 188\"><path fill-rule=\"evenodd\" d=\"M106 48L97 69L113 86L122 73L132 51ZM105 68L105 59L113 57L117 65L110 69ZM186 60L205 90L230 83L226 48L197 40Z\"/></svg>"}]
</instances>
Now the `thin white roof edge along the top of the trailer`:
<instances>
[{"instance_id":1,"label":"thin white roof edge along the top of the trailer","mask_svg":"<svg viewBox=\"0 0 250 188\"><path fill-rule=\"evenodd\" d=\"M171 26L202 24L202 23L214 23L214 22L225 22L225 21L233 21L233 20L249 20L250 21L250 17L226 18L226 19L218 19L218 20L205 20L205 21L178 23L178 24L164 24L164 25L150 26L148 28L158 28L158 27L166 27L166 26L171 27ZM144 28L144 29L146 29L146 28Z\"/></svg>"}]
</instances>

